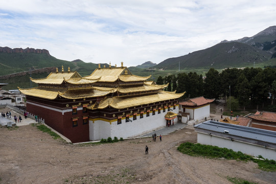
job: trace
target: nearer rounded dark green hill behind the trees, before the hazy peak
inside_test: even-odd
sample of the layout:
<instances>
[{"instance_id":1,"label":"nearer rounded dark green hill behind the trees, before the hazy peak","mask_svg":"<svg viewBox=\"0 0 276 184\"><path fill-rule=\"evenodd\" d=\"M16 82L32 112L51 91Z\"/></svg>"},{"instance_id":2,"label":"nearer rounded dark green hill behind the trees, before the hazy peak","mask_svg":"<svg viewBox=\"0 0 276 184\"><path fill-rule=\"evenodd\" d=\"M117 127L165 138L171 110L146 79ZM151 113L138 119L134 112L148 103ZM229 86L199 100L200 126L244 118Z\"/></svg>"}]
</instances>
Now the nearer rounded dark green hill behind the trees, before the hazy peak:
<instances>
[{"instance_id":1,"label":"nearer rounded dark green hill behind the trees, before the hazy peak","mask_svg":"<svg viewBox=\"0 0 276 184\"><path fill-rule=\"evenodd\" d=\"M226 42L185 56L166 59L154 67L163 68L164 70L176 70L179 62L180 70L185 68L251 67L254 66L254 62L264 66L268 65L267 61L270 57L270 53L250 45L239 42Z\"/></svg>"}]
</instances>

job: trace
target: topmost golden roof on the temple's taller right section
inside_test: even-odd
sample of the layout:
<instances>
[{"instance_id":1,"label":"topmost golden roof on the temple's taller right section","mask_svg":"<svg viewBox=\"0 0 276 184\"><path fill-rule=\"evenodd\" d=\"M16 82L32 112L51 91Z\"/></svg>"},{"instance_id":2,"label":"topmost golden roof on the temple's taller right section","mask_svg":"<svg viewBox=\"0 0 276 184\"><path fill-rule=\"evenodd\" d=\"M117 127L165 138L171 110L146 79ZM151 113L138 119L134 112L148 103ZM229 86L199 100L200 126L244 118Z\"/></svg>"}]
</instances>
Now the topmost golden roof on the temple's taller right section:
<instances>
[{"instance_id":1,"label":"topmost golden roof on the temple's taller right section","mask_svg":"<svg viewBox=\"0 0 276 184\"><path fill-rule=\"evenodd\" d=\"M131 81L145 81L148 77L140 77L132 75L126 67L107 67L107 68L96 68L95 71L89 75L85 76L86 79L98 79L99 82L115 82L118 79L124 82Z\"/></svg>"}]
</instances>

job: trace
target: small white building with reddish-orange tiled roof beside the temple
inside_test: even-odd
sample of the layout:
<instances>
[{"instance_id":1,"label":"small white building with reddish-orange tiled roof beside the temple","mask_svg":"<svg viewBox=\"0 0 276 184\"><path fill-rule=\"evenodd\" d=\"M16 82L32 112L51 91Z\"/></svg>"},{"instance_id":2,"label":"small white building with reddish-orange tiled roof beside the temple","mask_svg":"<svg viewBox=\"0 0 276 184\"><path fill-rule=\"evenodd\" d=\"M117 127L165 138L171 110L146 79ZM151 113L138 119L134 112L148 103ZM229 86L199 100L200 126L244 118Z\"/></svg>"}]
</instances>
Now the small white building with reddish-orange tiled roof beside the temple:
<instances>
[{"instance_id":1,"label":"small white building with reddish-orange tiled roof beside the temple","mask_svg":"<svg viewBox=\"0 0 276 184\"><path fill-rule=\"evenodd\" d=\"M210 117L210 103L215 99L205 99L197 97L179 103L179 118L182 123L198 122ZM190 124L190 123L189 123Z\"/></svg>"}]
</instances>

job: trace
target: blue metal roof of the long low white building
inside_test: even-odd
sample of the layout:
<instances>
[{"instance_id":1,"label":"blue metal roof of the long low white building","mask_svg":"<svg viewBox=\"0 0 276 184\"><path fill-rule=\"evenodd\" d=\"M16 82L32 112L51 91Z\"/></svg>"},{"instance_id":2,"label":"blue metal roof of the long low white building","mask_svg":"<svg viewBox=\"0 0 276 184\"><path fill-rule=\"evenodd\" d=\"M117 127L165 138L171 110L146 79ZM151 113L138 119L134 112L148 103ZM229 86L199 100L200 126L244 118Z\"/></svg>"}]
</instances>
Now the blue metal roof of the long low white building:
<instances>
[{"instance_id":1,"label":"blue metal roof of the long low white building","mask_svg":"<svg viewBox=\"0 0 276 184\"><path fill-rule=\"evenodd\" d=\"M258 140L267 143L276 144L276 131L270 131L259 128L245 127L240 125L233 125L228 123L216 122L216 121L206 121L194 126L195 130L204 129L215 131L219 133L225 133L229 135L236 135L244 137L246 139Z\"/></svg>"}]
</instances>

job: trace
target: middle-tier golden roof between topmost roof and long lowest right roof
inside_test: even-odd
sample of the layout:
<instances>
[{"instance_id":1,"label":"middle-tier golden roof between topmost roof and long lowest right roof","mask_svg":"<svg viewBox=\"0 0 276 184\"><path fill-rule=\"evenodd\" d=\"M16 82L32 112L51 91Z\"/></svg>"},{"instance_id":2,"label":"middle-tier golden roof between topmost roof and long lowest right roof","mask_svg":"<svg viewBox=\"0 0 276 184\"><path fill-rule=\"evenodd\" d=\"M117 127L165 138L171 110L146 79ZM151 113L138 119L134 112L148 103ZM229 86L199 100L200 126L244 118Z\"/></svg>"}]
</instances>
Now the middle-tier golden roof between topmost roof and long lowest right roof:
<instances>
[{"instance_id":1,"label":"middle-tier golden roof between topmost roof and long lowest right roof","mask_svg":"<svg viewBox=\"0 0 276 184\"><path fill-rule=\"evenodd\" d=\"M143 86L119 86L118 91L120 93L136 93L140 91L149 91L149 90L158 90L163 89L164 87L167 87L168 84L165 85L149 85L145 83Z\"/></svg>"}]
</instances>

